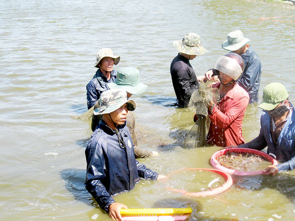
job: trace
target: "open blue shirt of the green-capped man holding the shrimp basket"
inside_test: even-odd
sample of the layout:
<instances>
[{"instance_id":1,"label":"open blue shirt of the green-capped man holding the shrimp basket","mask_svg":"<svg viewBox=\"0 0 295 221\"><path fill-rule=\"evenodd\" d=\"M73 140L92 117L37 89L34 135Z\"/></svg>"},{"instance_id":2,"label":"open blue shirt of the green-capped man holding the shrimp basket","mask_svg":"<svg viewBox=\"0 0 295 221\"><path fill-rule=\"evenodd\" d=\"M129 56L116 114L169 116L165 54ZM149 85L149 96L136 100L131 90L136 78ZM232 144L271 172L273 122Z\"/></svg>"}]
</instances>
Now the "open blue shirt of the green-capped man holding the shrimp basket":
<instances>
[{"instance_id":1,"label":"open blue shirt of the green-capped man holding the shrimp basket","mask_svg":"<svg viewBox=\"0 0 295 221\"><path fill-rule=\"evenodd\" d=\"M290 102L289 102L290 103ZM290 103L291 104L291 103ZM270 136L271 118L267 111L260 118L260 134L257 138L238 147L262 150L267 146L267 153L272 153L280 162L285 162L277 166L278 170L292 170L295 168L295 108L291 104L292 115L285 123L275 146Z\"/></svg>"}]
</instances>

